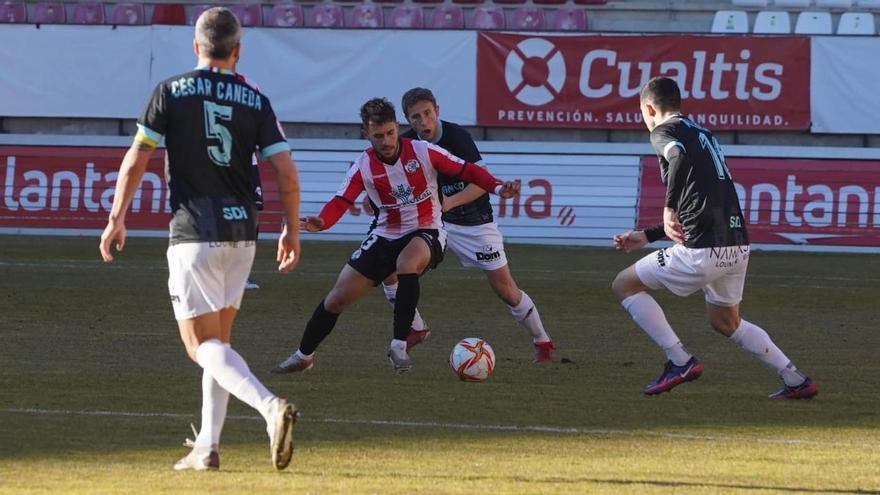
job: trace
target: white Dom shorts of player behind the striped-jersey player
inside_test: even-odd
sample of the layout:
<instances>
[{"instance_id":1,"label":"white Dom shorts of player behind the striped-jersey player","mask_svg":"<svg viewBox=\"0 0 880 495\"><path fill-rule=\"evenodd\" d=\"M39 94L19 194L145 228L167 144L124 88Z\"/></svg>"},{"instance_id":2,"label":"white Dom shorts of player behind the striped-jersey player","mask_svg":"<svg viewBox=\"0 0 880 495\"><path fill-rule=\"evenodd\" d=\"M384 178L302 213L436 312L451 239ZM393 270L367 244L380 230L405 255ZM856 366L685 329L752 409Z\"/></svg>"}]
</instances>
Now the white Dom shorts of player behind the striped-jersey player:
<instances>
[{"instance_id":1,"label":"white Dom shorts of player behind the striped-jersey player","mask_svg":"<svg viewBox=\"0 0 880 495\"><path fill-rule=\"evenodd\" d=\"M465 268L497 270L507 264L504 237L495 222L482 225L443 225L446 245Z\"/></svg>"}]
</instances>

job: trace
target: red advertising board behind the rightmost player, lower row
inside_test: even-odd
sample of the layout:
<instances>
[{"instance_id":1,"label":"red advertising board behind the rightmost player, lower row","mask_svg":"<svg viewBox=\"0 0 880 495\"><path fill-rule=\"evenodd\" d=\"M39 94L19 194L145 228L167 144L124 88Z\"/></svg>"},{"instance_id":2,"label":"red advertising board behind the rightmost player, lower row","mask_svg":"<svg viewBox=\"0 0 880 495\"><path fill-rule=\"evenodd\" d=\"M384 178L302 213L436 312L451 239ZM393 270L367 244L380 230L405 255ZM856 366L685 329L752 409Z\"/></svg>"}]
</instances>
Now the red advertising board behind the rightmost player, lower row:
<instances>
[{"instance_id":1,"label":"red advertising board behind the rightmost player, lower row","mask_svg":"<svg viewBox=\"0 0 880 495\"><path fill-rule=\"evenodd\" d=\"M880 161L727 158L752 243L880 246ZM666 187L642 159L638 226L660 222Z\"/></svg>"}]
</instances>

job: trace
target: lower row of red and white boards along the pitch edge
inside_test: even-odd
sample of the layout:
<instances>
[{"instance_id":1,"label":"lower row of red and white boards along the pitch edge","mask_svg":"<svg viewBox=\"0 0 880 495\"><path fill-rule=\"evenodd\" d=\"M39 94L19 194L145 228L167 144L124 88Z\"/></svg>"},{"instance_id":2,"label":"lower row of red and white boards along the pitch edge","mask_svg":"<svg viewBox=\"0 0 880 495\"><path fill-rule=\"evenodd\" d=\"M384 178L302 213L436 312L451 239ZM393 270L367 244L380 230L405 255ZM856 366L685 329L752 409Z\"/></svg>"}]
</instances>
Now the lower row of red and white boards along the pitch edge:
<instances>
[{"instance_id":1,"label":"lower row of red and white boards along the pitch edge","mask_svg":"<svg viewBox=\"0 0 880 495\"><path fill-rule=\"evenodd\" d=\"M130 138L0 135L0 233L97 236ZM336 192L360 140L291 140L302 211ZM519 197L493 197L510 242L608 246L611 236L659 221L664 190L646 144L480 142L497 176L522 181ZM747 227L765 249L880 251L880 150L727 146ZM130 235L167 236L164 154L156 153L128 216ZM262 170L263 232L280 230L277 189ZM361 239L371 220L358 201L327 240Z\"/></svg>"}]
</instances>

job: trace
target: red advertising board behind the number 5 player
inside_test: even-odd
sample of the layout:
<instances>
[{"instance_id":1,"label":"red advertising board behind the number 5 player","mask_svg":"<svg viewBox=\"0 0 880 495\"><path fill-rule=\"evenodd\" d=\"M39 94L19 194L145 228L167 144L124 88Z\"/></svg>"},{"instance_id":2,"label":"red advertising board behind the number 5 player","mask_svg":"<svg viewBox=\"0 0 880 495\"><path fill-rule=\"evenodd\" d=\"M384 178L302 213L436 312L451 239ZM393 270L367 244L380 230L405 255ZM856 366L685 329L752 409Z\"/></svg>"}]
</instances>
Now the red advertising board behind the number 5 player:
<instances>
[{"instance_id":1,"label":"red advertising board behind the number 5 player","mask_svg":"<svg viewBox=\"0 0 880 495\"><path fill-rule=\"evenodd\" d=\"M101 230L113 205L127 148L0 146L0 228ZM261 170L265 170L262 167ZM271 174L270 174L271 175ZM266 175L262 174L264 179ZM274 178L263 182L264 231L277 232L280 206ZM165 151L156 150L126 216L130 230L166 230L171 218Z\"/></svg>"}]
</instances>

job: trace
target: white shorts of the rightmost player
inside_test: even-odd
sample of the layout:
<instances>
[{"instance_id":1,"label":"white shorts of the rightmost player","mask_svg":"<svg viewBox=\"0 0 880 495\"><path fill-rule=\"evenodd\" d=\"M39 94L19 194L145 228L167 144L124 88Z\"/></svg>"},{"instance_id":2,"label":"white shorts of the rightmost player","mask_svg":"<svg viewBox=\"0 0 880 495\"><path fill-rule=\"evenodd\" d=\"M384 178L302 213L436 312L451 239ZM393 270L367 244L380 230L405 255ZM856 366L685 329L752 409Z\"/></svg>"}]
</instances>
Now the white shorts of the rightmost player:
<instances>
[{"instance_id":1,"label":"white shorts of the rightmost player","mask_svg":"<svg viewBox=\"0 0 880 495\"><path fill-rule=\"evenodd\" d=\"M637 261L636 274L651 289L665 287L682 297L702 289L706 301L736 306L748 266L749 246L691 249L676 244Z\"/></svg>"}]
</instances>

